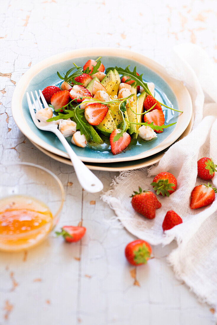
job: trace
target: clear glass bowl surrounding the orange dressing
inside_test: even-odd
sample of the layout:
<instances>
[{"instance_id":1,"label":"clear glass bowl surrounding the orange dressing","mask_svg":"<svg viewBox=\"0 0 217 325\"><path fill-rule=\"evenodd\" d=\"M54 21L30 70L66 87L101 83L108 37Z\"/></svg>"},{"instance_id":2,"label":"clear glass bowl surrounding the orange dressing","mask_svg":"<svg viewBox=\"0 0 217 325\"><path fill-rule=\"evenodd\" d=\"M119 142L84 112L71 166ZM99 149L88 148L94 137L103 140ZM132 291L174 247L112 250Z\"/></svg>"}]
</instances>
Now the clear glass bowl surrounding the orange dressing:
<instances>
[{"instance_id":1,"label":"clear glass bowl surrounding the orange dressing","mask_svg":"<svg viewBox=\"0 0 217 325\"><path fill-rule=\"evenodd\" d=\"M0 233L0 250L20 251L33 247L47 237L56 226L65 193L60 179L48 169L28 162L1 166L0 200L10 196L25 196L47 205L52 219L49 223L23 233Z\"/></svg>"}]
</instances>

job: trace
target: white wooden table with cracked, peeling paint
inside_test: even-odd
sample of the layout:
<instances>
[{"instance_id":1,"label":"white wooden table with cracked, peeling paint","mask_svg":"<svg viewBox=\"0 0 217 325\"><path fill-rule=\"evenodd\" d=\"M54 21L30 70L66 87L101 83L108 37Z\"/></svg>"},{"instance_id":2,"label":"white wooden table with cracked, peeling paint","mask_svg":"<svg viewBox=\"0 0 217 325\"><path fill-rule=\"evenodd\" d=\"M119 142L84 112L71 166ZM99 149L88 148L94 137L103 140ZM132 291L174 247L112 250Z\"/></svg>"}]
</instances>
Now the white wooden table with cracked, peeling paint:
<instances>
[{"instance_id":1,"label":"white wooden table with cracked, peeling paint","mask_svg":"<svg viewBox=\"0 0 217 325\"><path fill-rule=\"evenodd\" d=\"M69 49L112 46L162 62L180 42L205 48L217 61L216 1L5 0L0 19L0 159L34 162L58 175L66 190L60 226L82 222L84 239L65 244L51 234L22 253L0 253L0 325L210 325L213 310L175 279L166 255L135 268L125 260L134 239L106 222L114 215L99 195L82 191L73 168L36 149L16 127L11 96L21 75ZM96 172L104 189L117 173Z\"/></svg>"}]
</instances>

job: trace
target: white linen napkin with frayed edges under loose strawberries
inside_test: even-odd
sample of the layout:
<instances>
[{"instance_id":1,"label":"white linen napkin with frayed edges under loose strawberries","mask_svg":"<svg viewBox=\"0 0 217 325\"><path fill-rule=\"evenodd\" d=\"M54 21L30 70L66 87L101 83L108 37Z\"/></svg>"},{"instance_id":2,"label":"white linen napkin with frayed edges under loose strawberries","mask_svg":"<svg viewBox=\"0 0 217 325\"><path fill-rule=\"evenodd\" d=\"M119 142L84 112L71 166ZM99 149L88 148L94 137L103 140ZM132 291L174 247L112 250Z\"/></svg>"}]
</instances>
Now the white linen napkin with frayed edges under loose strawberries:
<instances>
[{"instance_id":1,"label":"white linen napkin with frayed edges under loose strawberries","mask_svg":"<svg viewBox=\"0 0 217 325\"><path fill-rule=\"evenodd\" d=\"M176 46L170 62L168 71L183 80L190 92L195 116L193 131L172 145L158 164L120 173L102 200L138 238L152 245L166 245L176 239L178 248L168 257L176 276L200 300L217 309L217 197L208 207L189 207L192 189L208 183L197 178L197 160L211 157L217 162L217 66L202 48L193 44ZM148 220L133 210L129 196L139 186L151 189L153 177L163 171L176 177L178 187L169 198L157 196L162 208L156 210L155 219ZM217 175L212 184L217 187ZM162 222L168 210L179 214L183 223L163 234Z\"/></svg>"}]
</instances>

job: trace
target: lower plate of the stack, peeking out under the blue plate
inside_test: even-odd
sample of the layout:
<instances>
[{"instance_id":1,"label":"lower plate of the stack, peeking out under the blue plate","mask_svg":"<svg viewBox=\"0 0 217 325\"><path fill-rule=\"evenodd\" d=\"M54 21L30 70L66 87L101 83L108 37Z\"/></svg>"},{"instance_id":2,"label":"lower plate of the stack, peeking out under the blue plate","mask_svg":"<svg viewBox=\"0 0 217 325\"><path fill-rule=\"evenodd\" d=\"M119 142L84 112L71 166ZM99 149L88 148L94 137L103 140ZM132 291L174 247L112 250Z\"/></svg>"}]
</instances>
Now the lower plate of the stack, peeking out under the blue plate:
<instances>
[{"instance_id":1,"label":"lower plate of the stack, peeking out under the blue plate","mask_svg":"<svg viewBox=\"0 0 217 325\"><path fill-rule=\"evenodd\" d=\"M187 136L191 132L193 123L194 123L194 115L192 114L191 121L188 124L186 130L183 132L183 134L176 141L181 140L183 137ZM47 156L49 156L59 162L62 162L62 163L72 166L72 162L70 159L55 155L55 154L51 153L50 151L47 151L46 149L41 148L39 145L37 145L33 141L31 141L31 142L34 144L34 146L36 148L38 148L40 151L45 153ZM134 160L133 162L114 162L114 163L87 163L86 162L85 165L91 170L102 170L102 171L110 171L110 172L133 170L133 169L138 169L138 168L142 168L142 167L147 167L147 166L153 165L156 162L159 162L167 150L168 150L168 148L159 152L156 155L153 155L148 158Z\"/></svg>"}]
</instances>

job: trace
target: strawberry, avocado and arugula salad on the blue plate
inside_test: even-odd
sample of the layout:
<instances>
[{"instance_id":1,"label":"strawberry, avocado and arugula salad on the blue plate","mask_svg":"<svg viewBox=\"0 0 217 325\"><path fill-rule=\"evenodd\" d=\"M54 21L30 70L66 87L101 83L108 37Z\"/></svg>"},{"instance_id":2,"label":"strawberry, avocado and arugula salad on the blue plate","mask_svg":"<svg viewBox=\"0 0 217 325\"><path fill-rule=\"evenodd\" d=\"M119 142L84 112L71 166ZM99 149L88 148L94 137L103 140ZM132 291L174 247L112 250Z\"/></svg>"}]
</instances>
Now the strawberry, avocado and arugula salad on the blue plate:
<instances>
[{"instance_id":1,"label":"strawberry, avocado and arugula salad on the blue plate","mask_svg":"<svg viewBox=\"0 0 217 325\"><path fill-rule=\"evenodd\" d=\"M63 76L61 87L42 91L49 108L36 112L40 121L56 121L73 145L85 148L109 139L111 152L125 150L131 138L150 141L175 123L165 125L162 106L155 98L155 85L145 83L136 67L130 71L110 67L105 70L101 57L88 60L83 68L73 67Z\"/></svg>"}]
</instances>

